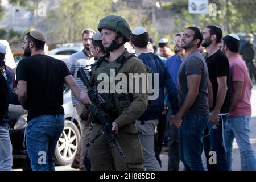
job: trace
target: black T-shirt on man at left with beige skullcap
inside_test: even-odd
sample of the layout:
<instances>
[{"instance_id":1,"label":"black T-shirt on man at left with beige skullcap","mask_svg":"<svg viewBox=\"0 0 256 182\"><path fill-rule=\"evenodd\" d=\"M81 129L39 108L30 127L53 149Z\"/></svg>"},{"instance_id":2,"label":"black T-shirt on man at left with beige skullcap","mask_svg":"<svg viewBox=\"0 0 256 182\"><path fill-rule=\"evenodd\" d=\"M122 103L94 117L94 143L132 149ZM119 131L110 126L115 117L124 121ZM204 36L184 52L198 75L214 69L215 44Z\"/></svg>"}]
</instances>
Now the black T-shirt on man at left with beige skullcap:
<instances>
[{"instance_id":1,"label":"black T-shirt on man at left with beige skullcap","mask_svg":"<svg viewBox=\"0 0 256 182\"><path fill-rule=\"evenodd\" d=\"M63 84L68 75L63 61L47 55L19 61L16 82L27 81L28 121L39 115L64 114Z\"/></svg>"}]
</instances>

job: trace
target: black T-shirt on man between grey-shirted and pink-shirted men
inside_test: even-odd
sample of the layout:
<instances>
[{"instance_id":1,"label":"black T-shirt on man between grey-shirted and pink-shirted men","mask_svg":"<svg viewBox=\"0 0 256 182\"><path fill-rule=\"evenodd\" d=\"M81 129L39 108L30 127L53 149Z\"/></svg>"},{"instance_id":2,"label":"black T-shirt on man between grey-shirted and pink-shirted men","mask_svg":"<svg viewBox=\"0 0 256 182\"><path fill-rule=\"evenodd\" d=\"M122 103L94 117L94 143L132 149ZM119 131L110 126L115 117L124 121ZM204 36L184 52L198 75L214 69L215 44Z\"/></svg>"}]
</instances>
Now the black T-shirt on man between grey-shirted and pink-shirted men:
<instances>
[{"instance_id":1,"label":"black T-shirt on man between grey-shirted and pink-shirted men","mask_svg":"<svg viewBox=\"0 0 256 182\"><path fill-rule=\"evenodd\" d=\"M218 82L217 77L220 76L226 76L226 84L229 88L229 60L224 55L224 53L220 50L215 52L213 55L207 57L205 59L208 66L208 72L209 72L209 78L210 82L212 83L212 89L213 89L213 108L216 106L216 98L217 98L217 92L218 92ZM229 97L229 89L226 93L225 100L223 102L223 105L221 107L220 113L228 113L229 106L230 106L230 97Z\"/></svg>"}]
</instances>

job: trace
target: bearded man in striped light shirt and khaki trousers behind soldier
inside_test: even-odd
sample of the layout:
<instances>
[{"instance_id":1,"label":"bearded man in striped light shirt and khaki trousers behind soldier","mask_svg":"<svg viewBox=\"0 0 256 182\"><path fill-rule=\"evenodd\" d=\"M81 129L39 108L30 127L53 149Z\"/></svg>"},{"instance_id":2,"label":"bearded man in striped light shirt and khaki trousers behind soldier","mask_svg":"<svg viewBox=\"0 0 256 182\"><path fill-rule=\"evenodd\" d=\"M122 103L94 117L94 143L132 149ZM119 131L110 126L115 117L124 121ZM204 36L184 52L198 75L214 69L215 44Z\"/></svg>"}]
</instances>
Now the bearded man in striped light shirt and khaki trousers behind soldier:
<instances>
[{"instance_id":1,"label":"bearded man in striped light shirt and khaki trousers behind soldier","mask_svg":"<svg viewBox=\"0 0 256 182\"><path fill-rule=\"evenodd\" d=\"M95 34L95 31L90 28L82 32L82 44L84 44L84 49L82 49L82 51L73 53L69 57L69 60L67 63L69 72L75 78L76 84L79 86L80 89L84 88L85 86L84 84L82 84L82 81L80 80L80 78L77 78L77 71L81 67L85 67L86 65L93 64L92 59L90 59L90 57L92 56L92 52L89 49L93 34ZM71 167L79 168L80 170L85 170L84 155L86 151L86 141L89 140L89 136L90 136L90 127L89 127L89 122L82 118L86 118L86 113L88 112L84 109L84 113L82 114L83 112L82 107L79 105L79 101L76 100L73 92L71 97L72 97L72 103L76 108L77 114L81 116L80 117L81 139L79 141L79 146L77 148L76 155L73 160L73 163L71 164Z\"/></svg>"}]
</instances>

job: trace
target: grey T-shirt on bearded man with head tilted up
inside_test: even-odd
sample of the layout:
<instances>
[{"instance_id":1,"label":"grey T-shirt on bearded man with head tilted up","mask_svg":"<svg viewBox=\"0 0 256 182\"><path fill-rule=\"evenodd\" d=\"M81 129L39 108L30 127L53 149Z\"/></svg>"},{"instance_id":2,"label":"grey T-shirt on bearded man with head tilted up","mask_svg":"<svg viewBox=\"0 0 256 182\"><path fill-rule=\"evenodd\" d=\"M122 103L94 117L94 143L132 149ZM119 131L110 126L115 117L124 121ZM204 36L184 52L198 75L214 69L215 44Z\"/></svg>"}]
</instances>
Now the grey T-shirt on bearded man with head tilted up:
<instances>
[{"instance_id":1,"label":"grey T-shirt on bearded man with head tilted up","mask_svg":"<svg viewBox=\"0 0 256 182\"><path fill-rule=\"evenodd\" d=\"M187 76L188 75L200 75L201 81L199 86L199 93L195 102L187 110L184 115L200 115L209 113L209 99L208 99L208 68L204 60L204 57L199 51L194 51L186 57L180 66L178 72L178 97L179 105L183 104L185 96L188 93Z\"/></svg>"}]
</instances>

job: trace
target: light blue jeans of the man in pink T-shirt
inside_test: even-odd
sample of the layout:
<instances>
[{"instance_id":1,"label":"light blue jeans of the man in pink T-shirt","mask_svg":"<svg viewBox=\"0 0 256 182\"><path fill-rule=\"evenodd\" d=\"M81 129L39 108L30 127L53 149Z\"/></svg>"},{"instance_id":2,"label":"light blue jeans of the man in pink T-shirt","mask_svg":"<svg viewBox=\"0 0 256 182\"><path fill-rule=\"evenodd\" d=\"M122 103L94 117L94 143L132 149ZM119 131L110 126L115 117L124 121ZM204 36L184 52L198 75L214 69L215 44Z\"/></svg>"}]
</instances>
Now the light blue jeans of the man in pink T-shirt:
<instances>
[{"instance_id":1,"label":"light blue jeans of the man in pink T-shirt","mask_svg":"<svg viewBox=\"0 0 256 182\"><path fill-rule=\"evenodd\" d=\"M228 117L225 130L225 144L228 160L228 169L232 166L232 144L236 138L239 151L241 154L242 170L256 170L256 159L253 148L250 144L249 121L250 116L241 115L237 117Z\"/></svg>"}]
</instances>

